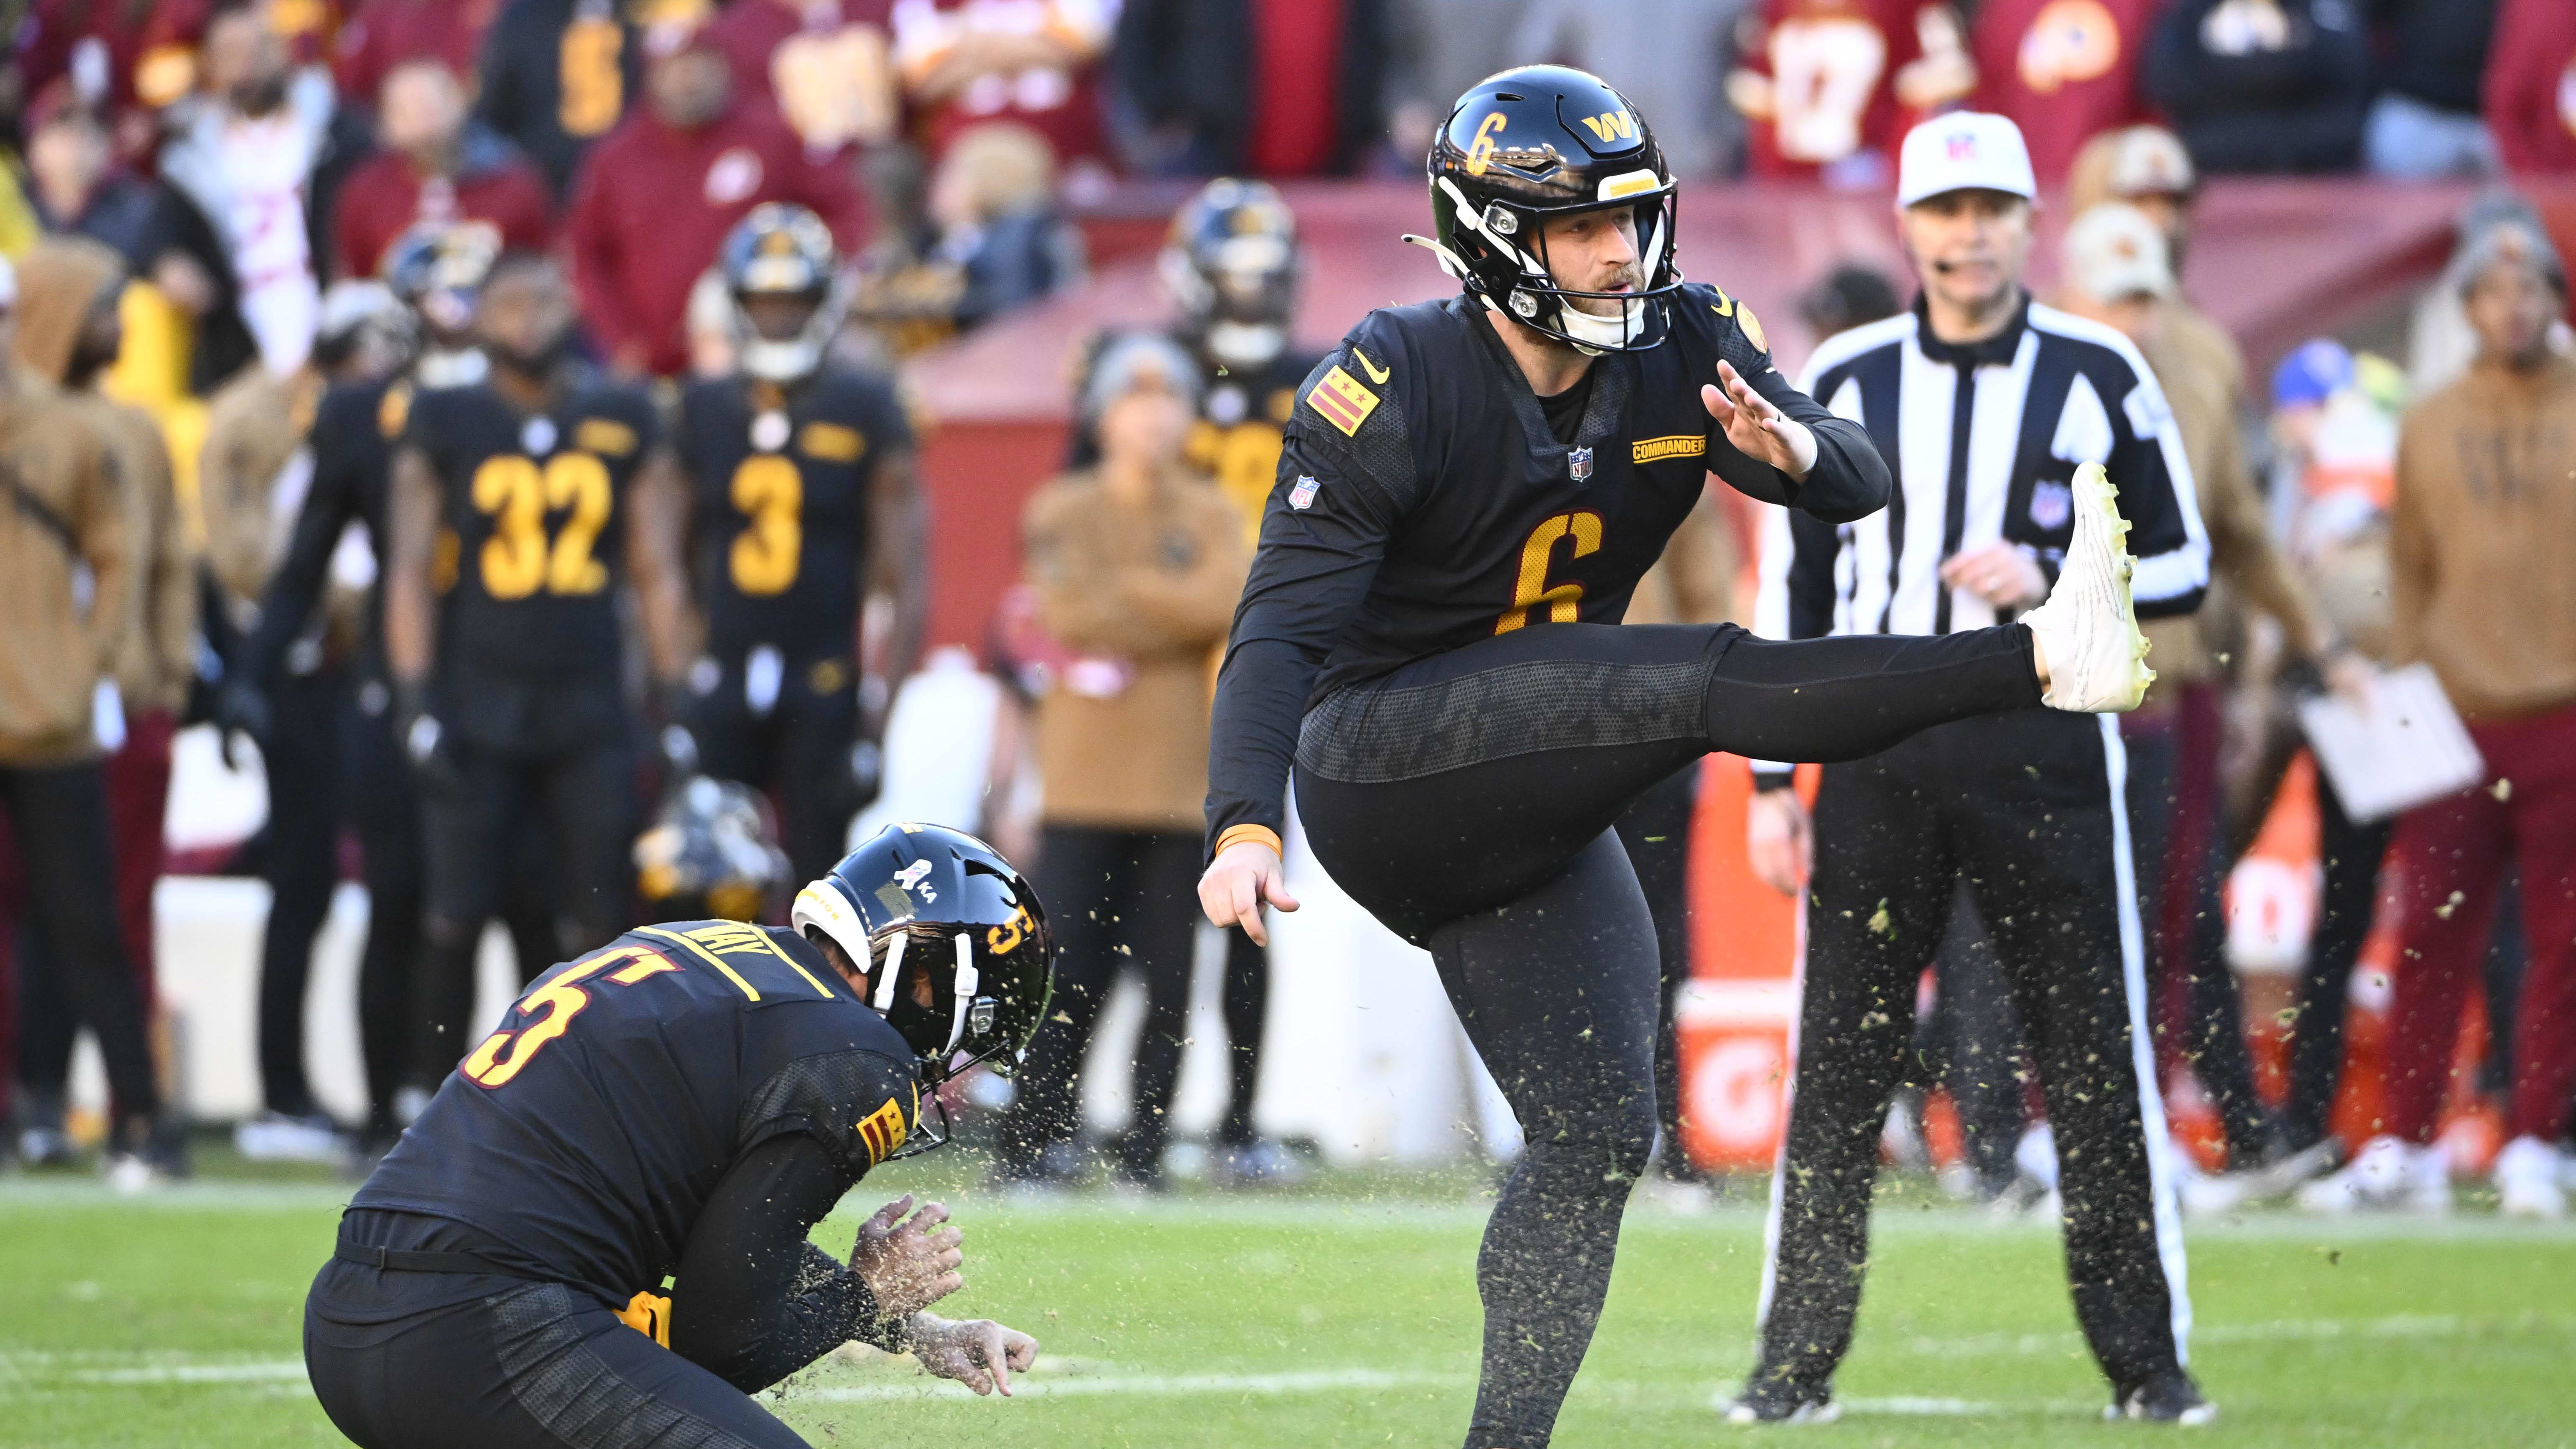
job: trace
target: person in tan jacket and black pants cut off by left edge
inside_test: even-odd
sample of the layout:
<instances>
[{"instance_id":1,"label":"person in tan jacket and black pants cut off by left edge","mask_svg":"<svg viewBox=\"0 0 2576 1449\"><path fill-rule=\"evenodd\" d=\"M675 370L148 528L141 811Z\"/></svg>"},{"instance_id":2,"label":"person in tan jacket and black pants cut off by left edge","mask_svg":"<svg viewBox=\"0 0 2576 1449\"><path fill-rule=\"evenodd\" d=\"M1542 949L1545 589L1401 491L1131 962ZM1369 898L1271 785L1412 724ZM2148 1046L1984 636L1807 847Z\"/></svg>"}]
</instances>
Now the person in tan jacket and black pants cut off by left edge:
<instances>
[{"instance_id":1,"label":"person in tan jacket and black pants cut off by left edge","mask_svg":"<svg viewBox=\"0 0 2576 1449\"><path fill-rule=\"evenodd\" d=\"M15 343L18 278L0 278L0 343ZM15 356L0 366L0 807L21 843L31 962L98 1034L121 1109L111 1171L139 1186L183 1171L185 1147L152 1080L98 766L98 681L134 608L131 513L113 449L82 410Z\"/></svg>"}]
</instances>

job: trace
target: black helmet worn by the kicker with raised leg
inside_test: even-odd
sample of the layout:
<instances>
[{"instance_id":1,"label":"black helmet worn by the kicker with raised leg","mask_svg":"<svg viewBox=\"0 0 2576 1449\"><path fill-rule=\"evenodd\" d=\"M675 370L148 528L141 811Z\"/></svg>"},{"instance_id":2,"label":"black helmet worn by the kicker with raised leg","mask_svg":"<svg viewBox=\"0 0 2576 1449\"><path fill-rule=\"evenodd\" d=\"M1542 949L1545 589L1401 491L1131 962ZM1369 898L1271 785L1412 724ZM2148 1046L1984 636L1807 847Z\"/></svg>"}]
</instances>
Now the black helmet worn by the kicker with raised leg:
<instances>
[{"instance_id":1,"label":"black helmet worn by the kicker with raised leg","mask_svg":"<svg viewBox=\"0 0 2576 1449\"><path fill-rule=\"evenodd\" d=\"M1525 64L1479 80L1432 139L1432 237L1404 237L1440 255L1486 307L1587 353L1641 353L1672 330L1682 286L1672 260L1674 183L1646 119L1597 75ZM1631 206L1641 291L1574 291L1548 273L1546 222L1571 211ZM1615 302L1610 315L1579 302Z\"/></svg>"}]
</instances>

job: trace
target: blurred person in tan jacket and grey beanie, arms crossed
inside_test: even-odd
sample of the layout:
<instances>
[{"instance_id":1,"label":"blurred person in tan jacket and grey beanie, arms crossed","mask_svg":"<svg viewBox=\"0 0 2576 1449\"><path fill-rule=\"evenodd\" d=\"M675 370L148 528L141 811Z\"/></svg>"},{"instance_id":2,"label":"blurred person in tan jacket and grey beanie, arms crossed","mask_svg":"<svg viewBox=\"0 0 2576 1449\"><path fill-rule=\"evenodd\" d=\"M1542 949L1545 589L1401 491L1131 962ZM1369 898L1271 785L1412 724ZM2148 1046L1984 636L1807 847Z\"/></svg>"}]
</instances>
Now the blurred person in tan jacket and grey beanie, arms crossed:
<instances>
[{"instance_id":1,"label":"blurred person in tan jacket and grey beanie, arms crossed","mask_svg":"<svg viewBox=\"0 0 2576 1449\"><path fill-rule=\"evenodd\" d=\"M1100 464L1023 516L1038 621L1069 657L1038 699L1038 890L1056 920L1056 1011L1020 1073L1002 1176L1061 1181L1074 1073L1121 962L1146 985L1136 1116L1115 1171L1159 1186L1180 1078L1208 794L1208 650L1244 590L1242 516L1182 467L1198 366L1170 338L1113 338L1082 397Z\"/></svg>"}]
</instances>

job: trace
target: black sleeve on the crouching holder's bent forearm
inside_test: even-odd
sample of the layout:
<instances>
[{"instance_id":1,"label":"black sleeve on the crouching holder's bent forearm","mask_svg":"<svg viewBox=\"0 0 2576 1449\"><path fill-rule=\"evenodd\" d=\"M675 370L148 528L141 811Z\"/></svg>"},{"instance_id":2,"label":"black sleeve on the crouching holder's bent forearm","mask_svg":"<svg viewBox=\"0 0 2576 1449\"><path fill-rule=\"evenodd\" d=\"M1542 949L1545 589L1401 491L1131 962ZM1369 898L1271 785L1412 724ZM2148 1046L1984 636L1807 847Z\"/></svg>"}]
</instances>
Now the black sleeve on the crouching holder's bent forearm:
<instances>
[{"instance_id":1,"label":"black sleeve on the crouching holder's bent forearm","mask_svg":"<svg viewBox=\"0 0 2576 1449\"><path fill-rule=\"evenodd\" d=\"M850 1338L891 1346L868 1284L806 1240L848 1189L804 1132L737 1158L680 1250L672 1351L760 1392Z\"/></svg>"}]
</instances>

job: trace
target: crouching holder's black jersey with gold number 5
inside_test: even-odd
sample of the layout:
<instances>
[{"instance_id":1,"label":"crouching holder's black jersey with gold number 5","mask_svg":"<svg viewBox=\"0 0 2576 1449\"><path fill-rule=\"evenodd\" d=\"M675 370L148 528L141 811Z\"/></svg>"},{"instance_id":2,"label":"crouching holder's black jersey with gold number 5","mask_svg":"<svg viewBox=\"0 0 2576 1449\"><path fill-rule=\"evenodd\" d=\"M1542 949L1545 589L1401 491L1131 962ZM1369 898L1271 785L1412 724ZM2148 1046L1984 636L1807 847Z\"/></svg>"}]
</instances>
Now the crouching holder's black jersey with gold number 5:
<instances>
[{"instance_id":1,"label":"crouching holder's black jersey with gold number 5","mask_svg":"<svg viewBox=\"0 0 2576 1449\"><path fill-rule=\"evenodd\" d=\"M626 1305L752 1147L809 1134L848 1191L917 1111L909 1047L809 941L644 926L538 977L350 1209L464 1222L513 1269Z\"/></svg>"}]
</instances>

